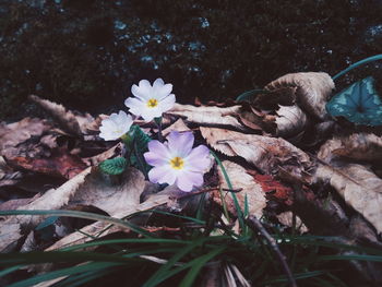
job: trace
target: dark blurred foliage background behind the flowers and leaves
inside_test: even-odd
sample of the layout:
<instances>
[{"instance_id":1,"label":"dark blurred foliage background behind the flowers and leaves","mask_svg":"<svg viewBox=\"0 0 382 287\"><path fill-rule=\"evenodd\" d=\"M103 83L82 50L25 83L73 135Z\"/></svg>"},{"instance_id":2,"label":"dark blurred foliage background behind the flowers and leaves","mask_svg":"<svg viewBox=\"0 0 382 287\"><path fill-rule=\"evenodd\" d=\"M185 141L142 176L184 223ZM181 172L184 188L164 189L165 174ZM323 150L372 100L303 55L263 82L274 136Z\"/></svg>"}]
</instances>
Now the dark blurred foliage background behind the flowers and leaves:
<instances>
[{"instance_id":1,"label":"dark blurred foliage background behind the flowers and leaves","mask_svg":"<svg viewBox=\"0 0 382 287\"><path fill-rule=\"evenodd\" d=\"M0 120L33 115L29 94L117 111L141 79L191 104L290 72L334 75L382 52L381 15L381 0L0 0ZM337 87L381 74L374 62Z\"/></svg>"}]
</instances>

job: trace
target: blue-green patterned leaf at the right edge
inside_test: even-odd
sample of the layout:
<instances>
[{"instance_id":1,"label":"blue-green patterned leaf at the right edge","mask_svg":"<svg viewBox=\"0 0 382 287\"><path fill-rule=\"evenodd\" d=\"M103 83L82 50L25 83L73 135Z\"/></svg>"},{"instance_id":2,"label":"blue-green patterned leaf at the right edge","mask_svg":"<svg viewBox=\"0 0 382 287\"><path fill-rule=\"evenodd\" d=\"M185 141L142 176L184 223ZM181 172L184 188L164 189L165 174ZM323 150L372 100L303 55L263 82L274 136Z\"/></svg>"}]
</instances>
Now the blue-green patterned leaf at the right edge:
<instances>
[{"instance_id":1,"label":"blue-green patterned leaf at the right edge","mask_svg":"<svg viewBox=\"0 0 382 287\"><path fill-rule=\"evenodd\" d=\"M357 124L382 125L382 100L374 87L374 79L368 76L335 95L326 110L334 117L345 117Z\"/></svg>"}]
</instances>

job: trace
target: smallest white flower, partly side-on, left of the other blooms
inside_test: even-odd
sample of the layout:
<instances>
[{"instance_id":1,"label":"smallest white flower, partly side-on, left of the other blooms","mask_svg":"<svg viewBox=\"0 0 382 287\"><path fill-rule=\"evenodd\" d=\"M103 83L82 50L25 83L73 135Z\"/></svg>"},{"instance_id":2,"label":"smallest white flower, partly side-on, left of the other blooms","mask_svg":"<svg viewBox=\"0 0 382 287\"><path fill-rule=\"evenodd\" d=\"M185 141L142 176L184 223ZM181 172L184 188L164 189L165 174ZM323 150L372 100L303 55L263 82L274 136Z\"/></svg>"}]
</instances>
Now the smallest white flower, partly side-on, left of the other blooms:
<instances>
[{"instance_id":1,"label":"smallest white flower, partly side-on, left of the other blooms","mask_svg":"<svg viewBox=\"0 0 382 287\"><path fill-rule=\"evenodd\" d=\"M123 110L120 110L119 113L111 113L109 118L100 122L99 136L105 141L115 141L126 134L132 123L133 119Z\"/></svg>"}]
</instances>

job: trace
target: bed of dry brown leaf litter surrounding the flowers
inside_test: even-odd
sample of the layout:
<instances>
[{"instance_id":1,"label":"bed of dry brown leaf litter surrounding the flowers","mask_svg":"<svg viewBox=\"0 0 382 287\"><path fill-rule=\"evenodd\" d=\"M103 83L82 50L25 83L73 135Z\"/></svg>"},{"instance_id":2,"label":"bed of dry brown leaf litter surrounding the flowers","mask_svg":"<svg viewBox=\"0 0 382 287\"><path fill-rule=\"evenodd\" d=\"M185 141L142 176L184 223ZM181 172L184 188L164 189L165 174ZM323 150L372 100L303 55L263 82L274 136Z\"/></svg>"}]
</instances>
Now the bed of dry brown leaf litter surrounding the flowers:
<instances>
[{"instance_id":1,"label":"bed of dry brown leaf litter surrounding the flowers","mask_svg":"<svg viewBox=\"0 0 382 287\"><path fill-rule=\"evenodd\" d=\"M31 96L51 118L25 118L0 124L0 210L96 208L120 219L142 211L187 216L190 206L196 210L204 194L204 204L208 205L205 208L217 208L213 213L220 214L227 211L229 224L235 225L238 214L232 194L236 194L240 207L250 215L273 218L284 228L336 235L350 244L368 240L380 246L382 179L378 170L382 169L382 139L373 130L359 132L333 121L325 110L333 89L334 83L325 73L295 73L271 82L265 86L266 93L248 103L213 106L210 103L199 107L176 104L163 118L163 134L192 130L199 142L205 142L224 159L222 165L234 189L215 166L206 175L205 187L196 190L195 195L180 193L174 187L160 191L163 187L148 184L145 176L133 167L121 175L103 174L98 168L102 162L127 153L120 143L106 143L97 136L106 116L94 118ZM141 120L134 123L152 136L159 132L154 124ZM62 184L15 199L12 195L15 190L16 194L25 192L17 184L34 177L41 186L49 184L48 178L60 178ZM147 230L154 230L153 225L163 230L171 226L163 219L155 222L156 218L160 216L153 212L138 215L133 222ZM93 238L131 234L128 227L94 220L63 232L46 247L35 235L36 227L46 219L47 215L1 217L1 252L41 247L51 251ZM235 264L230 267L218 264L208 266L214 279L205 278L206 285L216 283L216 274L222 271L232 282L232 271L242 277ZM358 266L366 273L370 273L369 267ZM241 279L243 286L248 284L244 277Z\"/></svg>"}]
</instances>

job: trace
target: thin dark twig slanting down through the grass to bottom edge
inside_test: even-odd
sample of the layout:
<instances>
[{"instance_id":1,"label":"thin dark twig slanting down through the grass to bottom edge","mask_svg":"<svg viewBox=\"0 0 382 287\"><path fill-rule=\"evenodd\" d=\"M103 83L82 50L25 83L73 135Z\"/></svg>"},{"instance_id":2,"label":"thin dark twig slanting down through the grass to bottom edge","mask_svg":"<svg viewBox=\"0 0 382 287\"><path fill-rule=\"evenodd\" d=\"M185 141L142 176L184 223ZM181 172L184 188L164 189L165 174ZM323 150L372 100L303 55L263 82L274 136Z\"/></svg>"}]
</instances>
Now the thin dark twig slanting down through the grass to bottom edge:
<instances>
[{"instance_id":1,"label":"thin dark twig slanting down through the grass to bottom edge","mask_svg":"<svg viewBox=\"0 0 382 287\"><path fill-rule=\"evenodd\" d=\"M248 224L248 226L251 229L258 230L266 239L266 241L270 243L273 251L277 254L278 260L282 263L283 268L288 277L289 285L291 287L297 287L297 283L294 278L294 276L291 275L290 268L285 260L285 255L279 250L279 248L276 243L276 240L265 230L264 226L259 222L259 219L255 216L248 217L246 219L246 223Z\"/></svg>"}]
</instances>

